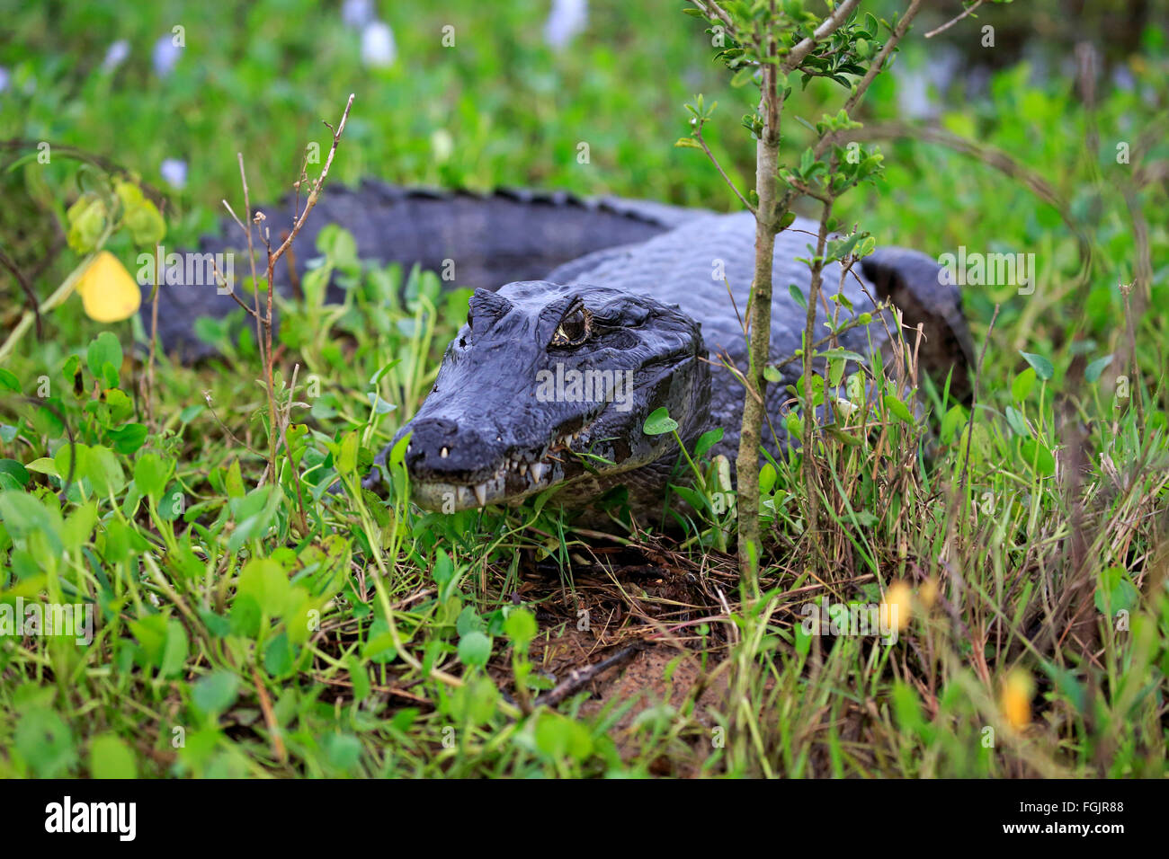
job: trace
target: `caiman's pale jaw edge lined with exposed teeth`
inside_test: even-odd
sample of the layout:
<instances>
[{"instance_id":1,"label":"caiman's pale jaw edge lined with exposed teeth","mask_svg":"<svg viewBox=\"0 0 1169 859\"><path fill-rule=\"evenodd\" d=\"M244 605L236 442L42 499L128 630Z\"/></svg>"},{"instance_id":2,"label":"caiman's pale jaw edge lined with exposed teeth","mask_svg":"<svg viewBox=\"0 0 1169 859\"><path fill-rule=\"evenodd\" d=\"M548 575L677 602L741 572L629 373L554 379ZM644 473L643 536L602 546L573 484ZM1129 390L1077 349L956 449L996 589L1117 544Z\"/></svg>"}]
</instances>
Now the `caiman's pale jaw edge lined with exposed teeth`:
<instances>
[{"instance_id":1,"label":"caiman's pale jaw edge lined with exposed teeth","mask_svg":"<svg viewBox=\"0 0 1169 859\"><path fill-rule=\"evenodd\" d=\"M572 445L576 442L588 442L588 431L595 420L594 415L580 429L558 436L534 459L521 453L505 457L486 480L476 484L414 480L411 494L421 506L444 512L519 501L563 479L565 457L573 455Z\"/></svg>"}]
</instances>

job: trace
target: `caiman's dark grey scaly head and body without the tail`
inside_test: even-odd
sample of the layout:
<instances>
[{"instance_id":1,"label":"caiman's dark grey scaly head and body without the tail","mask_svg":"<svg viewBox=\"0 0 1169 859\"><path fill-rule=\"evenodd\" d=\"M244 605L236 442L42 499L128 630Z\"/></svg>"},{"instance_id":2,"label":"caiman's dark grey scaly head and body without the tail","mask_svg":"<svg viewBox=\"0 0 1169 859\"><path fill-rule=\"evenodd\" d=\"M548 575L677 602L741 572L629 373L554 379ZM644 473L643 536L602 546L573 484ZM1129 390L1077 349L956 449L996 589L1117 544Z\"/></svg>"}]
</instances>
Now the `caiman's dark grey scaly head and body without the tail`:
<instances>
[{"instance_id":1,"label":"caiman's dark grey scaly head and body without the tail","mask_svg":"<svg viewBox=\"0 0 1169 859\"><path fill-rule=\"evenodd\" d=\"M788 284L808 293L809 270L797 259L811 256L808 245L816 228L800 219L776 238L773 360L800 347L805 314ZM471 325L459 331L443 358L435 389L397 435L411 432L406 465L417 503L450 512L514 503L560 485L556 500L581 507L613 485L625 484L630 507L655 514L678 456L670 436L646 437L642 431L645 418L660 406L679 423L687 444L721 427L722 439L712 453L733 460L742 388L718 356L747 366L735 307L739 313L746 307L753 265L749 214L701 215L648 241L561 265L542 284L509 284L490 297L476 293ZM866 355L887 353L886 326L894 324L893 318L877 314L872 300L887 297L902 309L904 325L912 328L920 321L931 345L947 344L931 346L924 354L935 361L935 370L954 367L961 382L952 388L961 393L970 360L969 334L956 291L939 283L938 263L922 254L890 249L866 258L860 269L843 280L838 264L824 271L825 296L843 291L853 313L874 314L870 325L845 332L841 346ZM715 279L717 273L726 283ZM625 300L614 303L614 293ZM594 313L593 332L579 346L556 345L553 332L574 302ZM696 331L682 352L676 328L663 323L665 309L700 326L700 335ZM849 319L850 312L843 311L841 318ZM600 319L603 325L596 325ZM825 319L821 307L818 334L826 331ZM624 345L615 342L622 338ZM691 360L691 354L707 354L713 363ZM539 373L553 372L558 363L600 370L637 367L631 407L618 411L614 403L539 402ZM669 389L643 382L659 379L646 368L663 366L670 368ZM798 362L781 373L782 381L767 393L774 435L765 428L765 439L773 455L788 441L782 415L791 397L786 388L796 382ZM646 442L653 444L645 446ZM642 448L635 452L638 444Z\"/></svg>"}]
</instances>

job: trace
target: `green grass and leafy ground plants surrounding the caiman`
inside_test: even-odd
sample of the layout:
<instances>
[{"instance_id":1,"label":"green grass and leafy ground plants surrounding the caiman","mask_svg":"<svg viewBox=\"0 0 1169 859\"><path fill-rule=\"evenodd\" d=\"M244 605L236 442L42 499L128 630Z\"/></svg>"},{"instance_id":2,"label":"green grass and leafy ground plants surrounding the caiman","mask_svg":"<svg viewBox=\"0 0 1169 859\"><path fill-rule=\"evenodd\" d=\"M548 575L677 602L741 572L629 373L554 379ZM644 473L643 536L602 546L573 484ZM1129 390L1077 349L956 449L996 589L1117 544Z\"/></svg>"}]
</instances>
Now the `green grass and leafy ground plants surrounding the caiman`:
<instances>
[{"instance_id":1,"label":"green grass and leafy ground plants surrounding the caiman","mask_svg":"<svg viewBox=\"0 0 1169 859\"><path fill-rule=\"evenodd\" d=\"M701 91L720 103L715 151L750 173L738 127L749 88L727 85L691 19L650 2L595 8L588 34L555 55L533 25L542 4L447 6L392 19L400 57L385 72L361 69L355 36L314 4L130 16L92 2L53 18L21 7L6 13L14 35L0 48L12 74L0 137L75 145L152 185L162 159L187 160L187 189L165 209L173 247L212 228L221 199L240 200L236 152L253 200L279 195L351 91L339 181L732 208L700 153L672 147L683 103ZM175 23L187 48L162 82L150 49ZM445 23L455 48L440 42ZM115 39L132 54L111 75L97 67ZM927 49L915 33L901 60ZM99 326L69 299L42 340L27 334L0 366L0 601L85 601L98 618L88 647L0 638L0 774L1163 776L1169 444L1156 309L1169 300L1169 234L1163 181L1127 201L1125 190L1137 169L1163 176L1165 136L1128 165L1115 159L1116 143L1164 127L1160 34L1128 65L1139 89L1101 89L1092 113L1067 81L1032 84L1019 67L941 117L1066 202L1093 250L1082 282L1059 208L985 153L883 141L885 182L845 198L845 222L931 254L1033 251L1037 289L966 290L987 346L968 462L968 414L938 392L908 421L885 403L859 410L848 438L824 435L815 451L816 541L798 455L765 469L758 601L741 601L733 557L714 548L726 515L696 518L680 540L616 522L599 535L534 505L423 513L400 467L388 503L359 491L465 316L466 296L441 293L430 275L324 249L358 285L344 305L282 309L289 443L262 485L269 409L249 338L200 369L160 359L147 393L140 326ZM812 88L791 110L815 119L829 96ZM895 81L878 79L866 105L866 122L887 127ZM802 133L793 123L786 153ZM440 161L443 134L454 148ZM47 213L63 222L76 199L77 162L25 162L0 182L0 244L34 270L54 247ZM133 270L126 235L108 247ZM1142 256L1151 282L1126 307L1116 284ZM78 261L60 250L37 293ZM406 298L388 300L403 280ZM20 293L11 279L2 289L7 331ZM700 489L717 489L713 476ZM913 596L892 646L802 630L811 602L879 603L897 583ZM572 669L629 646L639 650L599 697L528 713ZM1019 700L1031 713L1016 728Z\"/></svg>"}]
</instances>

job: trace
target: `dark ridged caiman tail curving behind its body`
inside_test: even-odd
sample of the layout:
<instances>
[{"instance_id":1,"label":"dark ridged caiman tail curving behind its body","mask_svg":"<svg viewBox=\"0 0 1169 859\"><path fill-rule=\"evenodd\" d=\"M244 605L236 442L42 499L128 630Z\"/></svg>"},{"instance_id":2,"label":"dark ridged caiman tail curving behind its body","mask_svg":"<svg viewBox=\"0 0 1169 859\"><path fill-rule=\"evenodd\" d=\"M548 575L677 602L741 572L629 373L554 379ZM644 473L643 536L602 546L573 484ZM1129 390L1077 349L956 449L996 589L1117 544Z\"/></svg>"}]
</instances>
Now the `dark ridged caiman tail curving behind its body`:
<instances>
[{"instance_id":1,"label":"dark ridged caiman tail curving behind its body","mask_svg":"<svg viewBox=\"0 0 1169 859\"><path fill-rule=\"evenodd\" d=\"M293 200L264 213L272 247L288 235L293 221ZM302 198L300 206L304 200ZM292 242L297 272L318 256L317 236L326 224L338 224L353 234L358 255L382 264L403 268L417 263L423 269L452 273L452 286L496 290L516 280L544 278L559 265L606 248L644 242L685 221L706 214L620 198L582 199L567 193L497 190L490 194L401 188L375 180L355 188L327 186L304 228ZM256 265L264 265L263 245L256 241ZM236 295L247 262L247 237L237 224L224 219L220 235L205 236L200 254L235 252ZM278 293L290 291L285 256L275 270ZM184 361L210 355L214 349L194 332L199 317L222 318L238 305L221 293L206 265L180 266L179 283L159 286L158 326L161 347ZM199 283L187 283L187 278ZM150 330L150 286L144 288L143 320Z\"/></svg>"}]
</instances>

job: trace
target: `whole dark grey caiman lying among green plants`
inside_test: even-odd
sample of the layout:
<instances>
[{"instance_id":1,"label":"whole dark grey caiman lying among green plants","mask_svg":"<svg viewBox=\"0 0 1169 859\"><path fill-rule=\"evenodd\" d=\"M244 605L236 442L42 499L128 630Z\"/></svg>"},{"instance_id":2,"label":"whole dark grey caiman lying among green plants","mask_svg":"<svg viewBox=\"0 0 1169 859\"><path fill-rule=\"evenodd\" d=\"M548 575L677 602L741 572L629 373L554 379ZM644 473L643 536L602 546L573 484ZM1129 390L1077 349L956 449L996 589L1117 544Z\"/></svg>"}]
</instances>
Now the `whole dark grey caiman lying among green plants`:
<instances>
[{"instance_id":1,"label":"whole dark grey caiman lying among green plants","mask_svg":"<svg viewBox=\"0 0 1169 859\"><path fill-rule=\"evenodd\" d=\"M290 213L281 214L283 221L268 212L267 223L291 223ZM295 242L298 268L327 223L353 234L361 258L435 271L454 261L454 283L475 288L433 389L395 437L410 434L406 466L420 506L454 512L560 486L559 503L586 507L624 485L632 510L659 510L678 451L672 435L646 435L643 427L662 407L687 445L721 427L712 455L734 460L743 389L725 365L747 367L740 319L754 268L749 213L366 181L326 193ZM790 358L802 341L807 311L795 295L809 292L801 258L812 256L816 233L816 223L796 219L776 237L774 361ZM238 244L205 238L201 250ZM839 346L880 366L894 319L874 302L892 304L906 330L922 326L920 365L940 381L949 377L953 396L968 397L970 335L961 296L939 271L929 256L898 248L878 248L848 273L829 265L817 337L829 309L838 324L870 313L872 321L845 331ZM277 290L286 279L278 268ZM828 300L838 292L844 300ZM208 352L193 334L195 317L236 306L208 288L168 284L159 295L162 345L188 359ZM800 363L780 367L781 380L767 389L765 446L773 455L787 444L782 416L794 403L787 387ZM366 485L379 482L375 469Z\"/></svg>"}]
</instances>

